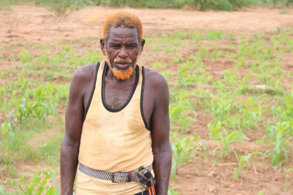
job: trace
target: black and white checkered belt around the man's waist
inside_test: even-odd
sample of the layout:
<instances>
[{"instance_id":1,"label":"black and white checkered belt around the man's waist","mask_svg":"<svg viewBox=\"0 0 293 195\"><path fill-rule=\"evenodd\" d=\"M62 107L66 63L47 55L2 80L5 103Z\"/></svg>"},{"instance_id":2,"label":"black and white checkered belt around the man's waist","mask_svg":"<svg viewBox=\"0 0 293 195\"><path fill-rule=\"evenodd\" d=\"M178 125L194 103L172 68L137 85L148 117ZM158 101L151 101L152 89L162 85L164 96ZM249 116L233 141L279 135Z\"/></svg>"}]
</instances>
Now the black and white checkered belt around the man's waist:
<instances>
[{"instance_id":1,"label":"black and white checkered belt around the man's waist","mask_svg":"<svg viewBox=\"0 0 293 195\"><path fill-rule=\"evenodd\" d=\"M144 169L151 170L151 166L144 167ZM112 183L137 182L140 184L138 172L105 172L92 169L79 163L79 171L90 177L97 179L110 180Z\"/></svg>"}]
</instances>

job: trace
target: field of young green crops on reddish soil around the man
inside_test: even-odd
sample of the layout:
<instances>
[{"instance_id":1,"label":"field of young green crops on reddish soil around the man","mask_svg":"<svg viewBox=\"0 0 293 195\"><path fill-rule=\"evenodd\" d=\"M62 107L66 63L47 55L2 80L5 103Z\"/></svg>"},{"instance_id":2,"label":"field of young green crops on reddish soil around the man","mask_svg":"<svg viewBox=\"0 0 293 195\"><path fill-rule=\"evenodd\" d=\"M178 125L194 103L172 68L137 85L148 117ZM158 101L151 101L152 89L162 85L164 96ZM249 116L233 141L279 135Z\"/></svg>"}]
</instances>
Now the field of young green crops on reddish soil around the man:
<instances>
[{"instance_id":1,"label":"field of young green crops on reddish soil around the man","mask_svg":"<svg viewBox=\"0 0 293 195\"><path fill-rule=\"evenodd\" d=\"M170 89L175 186L169 194L185 190L176 183L180 168L192 166L196 175L202 174L196 163L202 159L210 167L234 162L230 172L235 180L245 177L251 165L293 179L292 37L292 30L146 33L140 61L163 74ZM59 193L54 171L59 175L70 79L77 67L103 59L98 44L97 37L87 37L1 45L0 61L12 66L0 73L0 177L8 179L0 181L0 193ZM199 112L209 116L200 128ZM248 136L255 132L259 136ZM246 150L249 143L260 150ZM27 164L47 169L36 168L32 177L19 170ZM13 185L19 189L9 187Z\"/></svg>"}]
</instances>

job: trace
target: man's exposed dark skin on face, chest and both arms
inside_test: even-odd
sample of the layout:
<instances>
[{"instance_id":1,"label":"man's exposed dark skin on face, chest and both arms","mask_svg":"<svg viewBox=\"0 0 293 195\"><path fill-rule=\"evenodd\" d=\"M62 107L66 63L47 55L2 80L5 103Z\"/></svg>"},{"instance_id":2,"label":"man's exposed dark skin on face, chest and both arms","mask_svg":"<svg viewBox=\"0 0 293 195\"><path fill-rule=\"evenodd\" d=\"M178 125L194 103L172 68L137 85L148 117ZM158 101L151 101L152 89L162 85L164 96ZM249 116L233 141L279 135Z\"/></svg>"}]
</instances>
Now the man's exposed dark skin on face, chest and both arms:
<instances>
[{"instance_id":1,"label":"man's exposed dark skin on face, chest and both arms","mask_svg":"<svg viewBox=\"0 0 293 195\"><path fill-rule=\"evenodd\" d=\"M144 46L145 40L141 44ZM100 40L103 54L107 48L110 62L115 58L131 59L132 64L116 64L117 69L132 66L140 55L140 43L136 28L114 28L109 30L107 42ZM142 51L142 50L141 50ZM74 177L78 165L79 145L83 124L84 110L94 82L96 64L89 64L77 69L73 75L69 100L65 115L65 135L61 143L61 194L72 194ZM135 70L130 78L119 80L110 68L105 76L105 99L110 108L119 108L125 103L135 81ZM156 180L156 194L166 195L171 172L171 146L169 143L169 91L166 79L156 71L145 68L144 116L151 127L153 170ZM138 113L139 114L139 113ZM119 170L117 170L119 171Z\"/></svg>"}]
</instances>

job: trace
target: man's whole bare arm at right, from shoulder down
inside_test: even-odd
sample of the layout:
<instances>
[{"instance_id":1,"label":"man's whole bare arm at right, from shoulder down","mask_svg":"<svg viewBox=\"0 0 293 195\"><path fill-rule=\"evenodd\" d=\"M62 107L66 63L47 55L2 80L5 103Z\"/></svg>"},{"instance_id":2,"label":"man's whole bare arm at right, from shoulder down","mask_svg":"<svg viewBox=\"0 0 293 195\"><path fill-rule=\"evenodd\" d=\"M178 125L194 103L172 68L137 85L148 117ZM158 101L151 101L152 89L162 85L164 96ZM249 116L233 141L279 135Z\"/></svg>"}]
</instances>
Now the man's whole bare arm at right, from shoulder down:
<instances>
[{"instance_id":1,"label":"man's whole bare arm at right, from shoulder down","mask_svg":"<svg viewBox=\"0 0 293 195\"><path fill-rule=\"evenodd\" d=\"M151 140L154 154L156 194L168 193L171 172L172 150L169 142L169 90L166 79L159 75L154 80L155 106L151 115Z\"/></svg>"}]
</instances>

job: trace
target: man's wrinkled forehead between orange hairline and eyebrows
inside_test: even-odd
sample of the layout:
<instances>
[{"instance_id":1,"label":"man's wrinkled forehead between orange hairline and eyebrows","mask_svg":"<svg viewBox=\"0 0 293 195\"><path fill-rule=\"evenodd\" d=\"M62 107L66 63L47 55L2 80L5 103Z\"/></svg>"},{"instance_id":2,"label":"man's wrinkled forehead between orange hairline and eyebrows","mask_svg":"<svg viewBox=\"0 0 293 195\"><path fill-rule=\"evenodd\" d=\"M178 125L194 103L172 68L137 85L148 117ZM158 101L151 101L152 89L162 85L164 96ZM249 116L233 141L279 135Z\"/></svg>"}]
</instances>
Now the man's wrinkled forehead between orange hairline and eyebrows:
<instances>
[{"instance_id":1,"label":"man's wrinkled forehead between orange hairline and eyebrows","mask_svg":"<svg viewBox=\"0 0 293 195\"><path fill-rule=\"evenodd\" d=\"M135 40L138 41L138 30L137 28L128 28L128 27L113 27L111 26L109 29L108 40Z\"/></svg>"}]
</instances>

